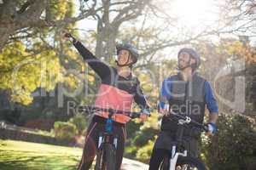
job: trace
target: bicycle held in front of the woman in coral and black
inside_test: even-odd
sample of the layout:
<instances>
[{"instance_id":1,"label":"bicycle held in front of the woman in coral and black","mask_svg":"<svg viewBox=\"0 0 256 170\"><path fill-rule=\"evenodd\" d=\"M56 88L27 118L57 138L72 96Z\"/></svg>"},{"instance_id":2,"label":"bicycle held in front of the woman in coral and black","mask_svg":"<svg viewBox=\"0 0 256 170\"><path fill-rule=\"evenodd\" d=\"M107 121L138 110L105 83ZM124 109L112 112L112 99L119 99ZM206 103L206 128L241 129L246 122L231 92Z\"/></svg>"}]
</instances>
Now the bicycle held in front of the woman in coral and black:
<instances>
[{"instance_id":1,"label":"bicycle held in front of the woman in coral and black","mask_svg":"<svg viewBox=\"0 0 256 170\"><path fill-rule=\"evenodd\" d=\"M95 111L108 112L108 119L104 127L104 132L99 133L99 140L96 151L95 170L114 170L116 169L116 149L118 137L113 135L113 115L124 114L130 116L131 119L140 117L139 112L119 111L113 109L103 109L95 106L84 106L83 111L94 113ZM113 139L113 142L111 142Z\"/></svg>"}]
</instances>

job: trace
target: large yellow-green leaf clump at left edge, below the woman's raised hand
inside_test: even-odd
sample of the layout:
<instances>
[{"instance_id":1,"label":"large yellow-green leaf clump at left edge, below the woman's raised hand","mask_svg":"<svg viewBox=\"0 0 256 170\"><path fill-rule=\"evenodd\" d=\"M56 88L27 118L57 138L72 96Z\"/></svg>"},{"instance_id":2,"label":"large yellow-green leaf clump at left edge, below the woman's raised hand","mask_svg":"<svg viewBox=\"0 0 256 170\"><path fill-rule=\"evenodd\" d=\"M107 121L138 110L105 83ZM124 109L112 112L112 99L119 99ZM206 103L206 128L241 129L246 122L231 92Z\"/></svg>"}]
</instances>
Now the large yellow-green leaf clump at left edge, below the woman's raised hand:
<instances>
[{"instance_id":1,"label":"large yellow-green leaf clump at left edge, below the woman's raised hand","mask_svg":"<svg viewBox=\"0 0 256 170\"><path fill-rule=\"evenodd\" d=\"M10 89L12 100L24 105L32 103L31 93L39 86L51 90L61 81L61 65L55 52L33 55L26 52L22 42L3 48L0 68L0 88Z\"/></svg>"}]
</instances>

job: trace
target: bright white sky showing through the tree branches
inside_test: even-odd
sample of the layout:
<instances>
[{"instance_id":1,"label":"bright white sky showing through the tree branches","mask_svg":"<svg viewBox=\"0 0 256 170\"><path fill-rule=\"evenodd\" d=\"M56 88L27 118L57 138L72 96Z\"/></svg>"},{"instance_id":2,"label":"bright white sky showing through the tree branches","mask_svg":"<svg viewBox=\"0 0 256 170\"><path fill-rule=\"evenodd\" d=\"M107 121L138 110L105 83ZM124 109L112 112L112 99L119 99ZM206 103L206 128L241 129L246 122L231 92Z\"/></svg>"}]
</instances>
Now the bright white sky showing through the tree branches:
<instances>
[{"instance_id":1,"label":"bright white sky showing through the tree branches","mask_svg":"<svg viewBox=\"0 0 256 170\"><path fill-rule=\"evenodd\" d=\"M161 2L161 1L160 1ZM166 14L177 17L177 27L185 28L191 35L196 35L205 29L214 29L213 26L219 26L218 15L221 12L218 8L220 0L172 0L172 3L166 5L166 3L159 4L159 7L166 11ZM79 0L76 0L76 7L79 7ZM152 21L152 22L155 22ZM94 30L96 31L95 20L80 20L78 23L80 34L84 35L84 32ZM168 33L178 34L178 30L172 30ZM230 37L231 35L224 35L224 37ZM182 37L182 35L181 35ZM234 36L233 36L234 37ZM212 42L218 42L220 37L209 37ZM254 43L255 38L252 39ZM167 57L172 56L176 58L178 48L166 49L165 54Z\"/></svg>"}]
</instances>

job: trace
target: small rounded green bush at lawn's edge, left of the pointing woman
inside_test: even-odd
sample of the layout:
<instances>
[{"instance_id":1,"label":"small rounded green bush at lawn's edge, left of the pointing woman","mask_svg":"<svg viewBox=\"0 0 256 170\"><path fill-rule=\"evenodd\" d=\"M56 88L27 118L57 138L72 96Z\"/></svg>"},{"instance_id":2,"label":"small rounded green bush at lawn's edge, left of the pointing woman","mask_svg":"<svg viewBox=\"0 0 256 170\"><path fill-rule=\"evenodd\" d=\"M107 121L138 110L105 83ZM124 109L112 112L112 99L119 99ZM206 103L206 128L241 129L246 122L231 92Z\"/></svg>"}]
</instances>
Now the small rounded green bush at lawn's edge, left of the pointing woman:
<instances>
[{"instance_id":1,"label":"small rounded green bush at lawn's edge, left of the pointing woman","mask_svg":"<svg viewBox=\"0 0 256 170\"><path fill-rule=\"evenodd\" d=\"M78 132L77 127L70 122L55 122L55 138L65 141L71 141Z\"/></svg>"}]
</instances>

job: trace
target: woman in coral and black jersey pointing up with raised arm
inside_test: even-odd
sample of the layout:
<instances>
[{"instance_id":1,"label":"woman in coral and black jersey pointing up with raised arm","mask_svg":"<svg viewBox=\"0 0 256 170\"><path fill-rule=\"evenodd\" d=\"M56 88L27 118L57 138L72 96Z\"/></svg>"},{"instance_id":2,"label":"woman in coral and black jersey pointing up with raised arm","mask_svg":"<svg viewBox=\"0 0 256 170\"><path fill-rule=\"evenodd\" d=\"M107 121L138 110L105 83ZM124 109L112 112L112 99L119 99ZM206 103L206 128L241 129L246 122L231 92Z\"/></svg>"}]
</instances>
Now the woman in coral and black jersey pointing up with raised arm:
<instances>
[{"instance_id":1,"label":"woman in coral and black jersey pointing up with raised arm","mask_svg":"<svg viewBox=\"0 0 256 170\"><path fill-rule=\"evenodd\" d=\"M90 67L96 71L102 79L99 92L96 97L95 105L99 108L112 108L119 111L131 111L132 101L134 100L141 108L141 118L144 120L149 116L149 107L140 88L137 77L131 74L132 65L137 62L139 54L137 49L130 44L120 44L116 47L118 58L116 59L117 68L113 68L97 59L81 42L77 41L70 33L65 33L64 37L73 42L79 54ZM104 125L108 118L108 112L96 112L87 129L84 144L84 153L80 161L78 170L90 169L91 163L96 156L96 148L99 133L104 131ZM116 114L113 118L113 133L117 134L117 169L121 167L126 129L125 123L130 120L129 116Z\"/></svg>"}]
</instances>

